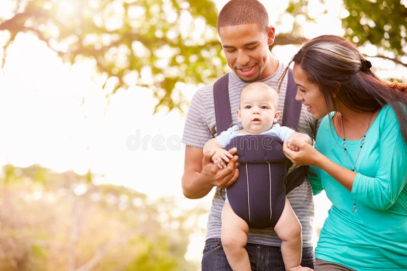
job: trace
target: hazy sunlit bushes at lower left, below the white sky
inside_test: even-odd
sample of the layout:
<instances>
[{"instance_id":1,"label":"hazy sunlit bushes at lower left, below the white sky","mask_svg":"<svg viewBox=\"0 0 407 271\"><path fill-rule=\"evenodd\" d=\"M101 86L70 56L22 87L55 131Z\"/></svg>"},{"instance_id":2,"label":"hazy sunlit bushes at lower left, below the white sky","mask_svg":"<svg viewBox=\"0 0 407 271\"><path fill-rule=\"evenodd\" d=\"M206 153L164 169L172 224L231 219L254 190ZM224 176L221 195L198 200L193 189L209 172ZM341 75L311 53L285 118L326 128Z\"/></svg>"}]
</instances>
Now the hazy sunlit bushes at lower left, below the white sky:
<instances>
[{"instance_id":1,"label":"hazy sunlit bushes at lower left, below the white sky","mask_svg":"<svg viewBox=\"0 0 407 271\"><path fill-rule=\"evenodd\" d=\"M0 178L0 270L196 270L184 255L203 208L152 201L88 176L7 165ZM8 179L14 172L13 179Z\"/></svg>"}]
</instances>

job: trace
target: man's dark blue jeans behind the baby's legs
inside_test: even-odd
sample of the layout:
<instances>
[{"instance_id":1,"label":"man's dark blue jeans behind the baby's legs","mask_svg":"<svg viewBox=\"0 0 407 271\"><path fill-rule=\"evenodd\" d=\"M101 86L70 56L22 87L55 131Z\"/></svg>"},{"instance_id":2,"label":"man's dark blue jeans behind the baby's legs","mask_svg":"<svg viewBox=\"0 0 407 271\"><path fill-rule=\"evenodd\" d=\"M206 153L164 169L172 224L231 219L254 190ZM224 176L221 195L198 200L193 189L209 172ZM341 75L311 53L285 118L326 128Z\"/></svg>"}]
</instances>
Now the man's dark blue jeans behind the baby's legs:
<instances>
[{"instance_id":1,"label":"man's dark blue jeans behind the baby's legs","mask_svg":"<svg viewBox=\"0 0 407 271\"><path fill-rule=\"evenodd\" d=\"M246 245L252 270L258 271L285 271L280 247L269 247L264 245ZM314 254L312 248L302 249L301 266L314 268ZM220 238L208 239L203 249L202 271L231 270L223 251Z\"/></svg>"}]
</instances>

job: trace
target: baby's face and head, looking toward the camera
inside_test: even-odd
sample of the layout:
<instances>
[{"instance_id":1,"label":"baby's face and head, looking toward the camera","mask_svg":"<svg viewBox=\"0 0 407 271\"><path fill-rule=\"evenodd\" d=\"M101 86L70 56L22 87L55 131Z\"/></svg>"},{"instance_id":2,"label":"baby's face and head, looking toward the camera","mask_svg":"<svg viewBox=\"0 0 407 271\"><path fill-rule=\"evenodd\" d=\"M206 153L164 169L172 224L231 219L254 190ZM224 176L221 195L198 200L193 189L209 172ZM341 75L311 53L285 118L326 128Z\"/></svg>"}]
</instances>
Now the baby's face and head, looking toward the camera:
<instances>
[{"instance_id":1,"label":"baby's face and head, looking toward the camera","mask_svg":"<svg viewBox=\"0 0 407 271\"><path fill-rule=\"evenodd\" d=\"M269 130L280 116L277 105L278 94L274 89L257 84L243 89L240 109L236 110L243 130L252 134Z\"/></svg>"}]
</instances>

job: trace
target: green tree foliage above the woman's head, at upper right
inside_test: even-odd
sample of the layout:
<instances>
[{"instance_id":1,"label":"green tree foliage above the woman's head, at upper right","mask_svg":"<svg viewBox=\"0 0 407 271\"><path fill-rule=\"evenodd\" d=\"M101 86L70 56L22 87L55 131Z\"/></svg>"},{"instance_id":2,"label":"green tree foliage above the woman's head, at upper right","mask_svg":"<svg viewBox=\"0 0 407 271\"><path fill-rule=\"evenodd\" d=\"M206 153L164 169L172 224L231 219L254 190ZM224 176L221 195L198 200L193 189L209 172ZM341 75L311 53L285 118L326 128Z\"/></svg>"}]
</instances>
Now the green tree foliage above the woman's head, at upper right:
<instances>
[{"instance_id":1,"label":"green tree foliage above the woman's head, at upper right","mask_svg":"<svg viewBox=\"0 0 407 271\"><path fill-rule=\"evenodd\" d=\"M305 16L312 21L308 14L311 9L310 0L291 0L287 12L294 16ZM318 0L322 5L328 0ZM344 37L358 46L374 45L378 48L376 55L394 61L407 67L407 61L402 57L407 54L407 2L400 0L343 0L341 12ZM298 39L301 25L296 21L293 34Z\"/></svg>"}]
</instances>

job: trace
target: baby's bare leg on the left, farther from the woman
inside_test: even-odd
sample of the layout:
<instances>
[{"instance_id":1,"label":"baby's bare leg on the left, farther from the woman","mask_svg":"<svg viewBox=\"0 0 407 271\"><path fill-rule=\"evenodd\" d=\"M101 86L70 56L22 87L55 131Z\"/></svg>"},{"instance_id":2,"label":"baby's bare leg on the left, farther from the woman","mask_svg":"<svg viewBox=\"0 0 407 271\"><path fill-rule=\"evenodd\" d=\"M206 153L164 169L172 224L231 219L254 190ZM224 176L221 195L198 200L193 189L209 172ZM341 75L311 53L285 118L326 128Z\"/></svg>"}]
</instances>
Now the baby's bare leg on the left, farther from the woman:
<instances>
[{"instance_id":1,"label":"baby's bare leg on the left, farther from the woman","mask_svg":"<svg viewBox=\"0 0 407 271\"><path fill-rule=\"evenodd\" d=\"M221 240L227 261L233 270L251 270L245 249L249 226L225 203L222 210Z\"/></svg>"}]
</instances>

